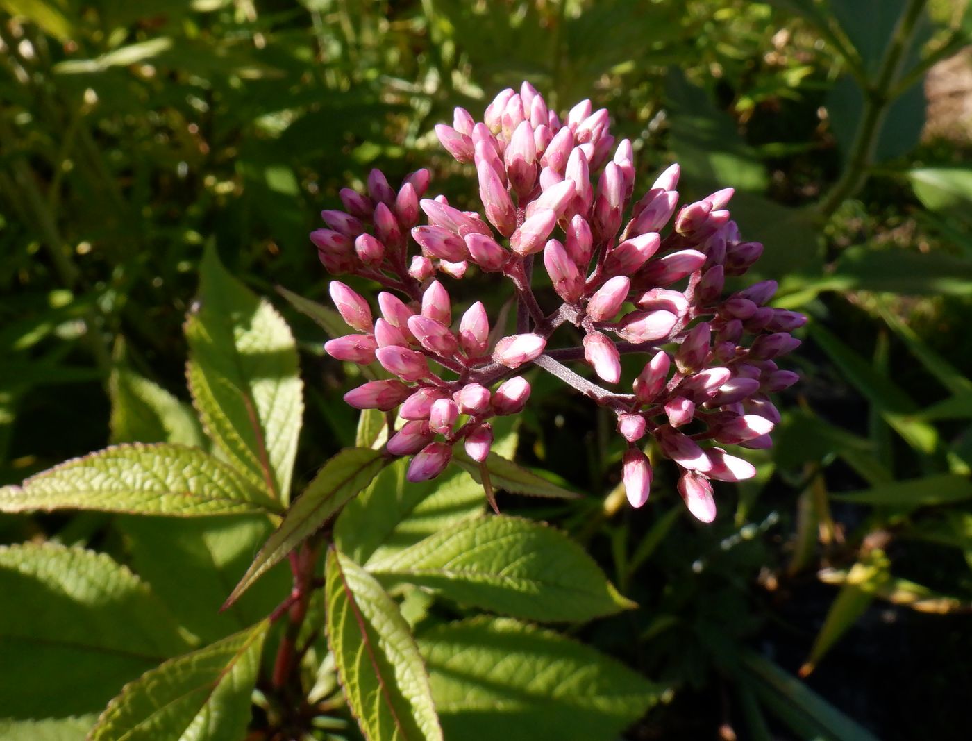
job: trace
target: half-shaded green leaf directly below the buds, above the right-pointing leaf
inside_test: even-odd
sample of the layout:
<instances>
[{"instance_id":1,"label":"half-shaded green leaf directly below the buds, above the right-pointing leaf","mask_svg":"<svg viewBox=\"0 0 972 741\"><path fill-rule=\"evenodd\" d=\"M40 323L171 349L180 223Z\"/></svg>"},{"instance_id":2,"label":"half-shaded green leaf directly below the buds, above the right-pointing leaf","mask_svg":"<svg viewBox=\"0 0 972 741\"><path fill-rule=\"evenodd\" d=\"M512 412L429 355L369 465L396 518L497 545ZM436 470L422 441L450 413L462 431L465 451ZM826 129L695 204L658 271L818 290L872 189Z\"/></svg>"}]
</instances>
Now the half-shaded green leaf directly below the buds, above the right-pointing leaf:
<instances>
[{"instance_id":1,"label":"half-shaded green leaf directly below the buds, above the right-pointing leaf","mask_svg":"<svg viewBox=\"0 0 972 741\"><path fill-rule=\"evenodd\" d=\"M395 461L338 515L334 543L356 563L385 558L482 512L482 486L464 471L413 483L407 470L405 459Z\"/></svg>"}]
</instances>

